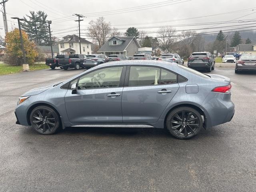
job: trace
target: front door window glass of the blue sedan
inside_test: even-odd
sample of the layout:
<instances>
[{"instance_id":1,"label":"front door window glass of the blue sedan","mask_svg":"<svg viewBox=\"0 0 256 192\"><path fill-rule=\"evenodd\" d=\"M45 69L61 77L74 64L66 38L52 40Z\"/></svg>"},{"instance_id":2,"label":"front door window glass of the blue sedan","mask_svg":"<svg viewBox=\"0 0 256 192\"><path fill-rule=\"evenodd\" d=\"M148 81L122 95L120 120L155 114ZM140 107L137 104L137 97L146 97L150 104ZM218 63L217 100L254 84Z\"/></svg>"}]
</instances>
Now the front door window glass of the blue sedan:
<instances>
[{"instance_id":1,"label":"front door window glass of the blue sedan","mask_svg":"<svg viewBox=\"0 0 256 192\"><path fill-rule=\"evenodd\" d=\"M109 67L85 74L78 80L78 89L119 87L122 69L122 66Z\"/></svg>"}]
</instances>

